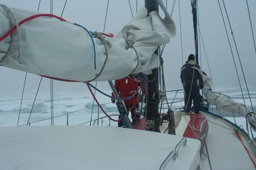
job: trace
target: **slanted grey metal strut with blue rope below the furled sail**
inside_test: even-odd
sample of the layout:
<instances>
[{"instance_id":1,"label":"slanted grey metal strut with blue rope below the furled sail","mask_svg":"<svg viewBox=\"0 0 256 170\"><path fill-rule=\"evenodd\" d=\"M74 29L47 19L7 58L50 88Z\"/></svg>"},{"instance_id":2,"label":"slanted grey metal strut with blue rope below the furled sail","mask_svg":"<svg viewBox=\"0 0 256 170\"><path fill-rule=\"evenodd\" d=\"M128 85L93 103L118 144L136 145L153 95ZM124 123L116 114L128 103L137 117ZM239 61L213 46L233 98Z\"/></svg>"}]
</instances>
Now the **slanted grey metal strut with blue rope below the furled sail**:
<instances>
[{"instance_id":1,"label":"slanted grey metal strut with blue rope below the furled sail","mask_svg":"<svg viewBox=\"0 0 256 170\"><path fill-rule=\"evenodd\" d=\"M116 91L116 88L115 88L113 82L112 82L112 81L108 81L108 82L109 82L110 88L111 88L112 91L113 91L113 94L114 94L115 98L118 98L118 94L117 94L117 91ZM132 125L131 125L131 123L130 123L130 120L129 120L129 118L128 118L128 115L127 115L127 109L126 109L126 107L125 107L124 101L123 101L123 100L117 100L117 101L116 101L116 106L117 106L117 107L118 107L118 106L121 107L121 113L119 113L119 114L120 114L121 118L124 117L124 119L122 119L122 121L124 122L124 124L125 124L125 122L126 122L126 124L128 125L128 128L133 129L133 127L132 127Z\"/></svg>"}]
</instances>

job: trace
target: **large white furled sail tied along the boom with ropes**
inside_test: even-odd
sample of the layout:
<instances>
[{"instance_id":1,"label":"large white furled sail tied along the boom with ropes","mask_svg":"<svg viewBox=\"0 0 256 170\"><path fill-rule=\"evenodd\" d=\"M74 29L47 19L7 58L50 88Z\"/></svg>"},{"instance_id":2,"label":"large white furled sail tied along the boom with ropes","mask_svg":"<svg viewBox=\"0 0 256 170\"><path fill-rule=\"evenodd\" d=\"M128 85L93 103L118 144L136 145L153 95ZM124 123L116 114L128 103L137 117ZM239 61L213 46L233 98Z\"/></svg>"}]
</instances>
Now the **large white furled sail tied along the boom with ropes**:
<instances>
[{"instance_id":1,"label":"large white furled sail tied along the boom with ropes","mask_svg":"<svg viewBox=\"0 0 256 170\"><path fill-rule=\"evenodd\" d=\"M32 15L42 14L10 9L18 22ZM94 81L122 79L130 73L151 71L159 67L159 58L154 51L158 46L169 43L170 38L175 36L175 24L171 18L168 22L161 19L157 12L151 12L148 17L147 14L146 8L142 7L118 34L104 38L112 47L106 46L108 60L101 75ZM0 37L15 25L13 19L9 20L3 6L0 7L0 23ZM13 46L7 57L5 55L11 44L11 35L0 42L0 65L57 79L87 82L100 73L105 62L104 45L95 37L95 70L93 42L88 32L71 23L53 17L38 17L19 26L19 33L22 64L18 59L16 29ZM126 44L126 40L134 43L139 61L136 52Z\"/></svg>"}]
</instances>

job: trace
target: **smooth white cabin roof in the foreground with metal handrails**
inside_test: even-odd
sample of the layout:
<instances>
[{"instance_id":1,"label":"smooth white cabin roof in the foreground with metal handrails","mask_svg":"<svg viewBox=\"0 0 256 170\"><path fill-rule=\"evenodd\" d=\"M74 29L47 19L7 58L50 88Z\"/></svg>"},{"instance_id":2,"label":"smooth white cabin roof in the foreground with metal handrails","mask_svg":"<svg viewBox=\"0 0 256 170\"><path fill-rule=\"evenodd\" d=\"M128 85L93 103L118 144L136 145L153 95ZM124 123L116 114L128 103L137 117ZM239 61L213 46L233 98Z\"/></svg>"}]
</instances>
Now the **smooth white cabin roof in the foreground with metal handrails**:
<instances>
[{"instance_id":1,"label":"smooth white cabin roof in the foreground with metal handrails","mask_svg":"<svg viewBox=\"0 0 256 170\"><path fill-rule=\"evenodd\" d=\"M106 126L0 128L0 169L158 170L181 139ZM199 148L198 140L187 139L187 147L180 148L179 158L170 168L189 169Z\"/></svg>"}]
</instances>

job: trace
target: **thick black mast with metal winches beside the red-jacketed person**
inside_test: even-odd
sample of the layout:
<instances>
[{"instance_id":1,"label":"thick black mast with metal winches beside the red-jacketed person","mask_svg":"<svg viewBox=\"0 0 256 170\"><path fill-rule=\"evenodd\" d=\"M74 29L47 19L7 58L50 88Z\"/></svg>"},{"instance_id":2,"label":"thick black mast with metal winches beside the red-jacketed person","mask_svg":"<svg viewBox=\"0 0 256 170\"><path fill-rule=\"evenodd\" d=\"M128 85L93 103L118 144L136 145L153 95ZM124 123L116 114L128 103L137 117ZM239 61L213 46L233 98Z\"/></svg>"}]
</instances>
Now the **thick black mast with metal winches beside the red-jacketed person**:
<instances>
[{"instance_id":1,"label":"thick black mast with metal winches beside the red-jacketed person","mask_svg":"<svg viewBox=\"0 0 256 170\"><path fill-rule=\"evenodd\" d=\"M145 7L148 13L152 11L158 12L158 3L156 0L145 0ZM158 55L158 48L155 51ZM153 122L153 127L147 129L148 131L159 132L159 107L158 102L153 99L153 94L158 90L158 68L152 70L152 74L147 76L148 80L153 80L152 82L146 81L146 123L151 124ZM147 124L145 123L145 127Z\"/></svg>"}]
</instances>

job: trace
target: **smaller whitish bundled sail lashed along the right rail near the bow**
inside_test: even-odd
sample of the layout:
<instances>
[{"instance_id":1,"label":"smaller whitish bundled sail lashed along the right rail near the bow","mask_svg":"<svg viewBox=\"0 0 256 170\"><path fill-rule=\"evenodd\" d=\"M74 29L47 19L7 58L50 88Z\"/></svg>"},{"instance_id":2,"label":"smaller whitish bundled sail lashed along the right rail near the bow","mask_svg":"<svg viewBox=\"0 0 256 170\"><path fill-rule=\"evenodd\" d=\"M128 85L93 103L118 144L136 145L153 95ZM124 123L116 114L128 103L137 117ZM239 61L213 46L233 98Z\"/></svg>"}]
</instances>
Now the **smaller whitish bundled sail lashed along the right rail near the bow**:
<instances>
[{"instance_id":1,"label":"smaller whitish bundled sail lashed along the right rail near the bow","mask_svg":"<svg viewBox=\"0 0 256 170\"><path fill-rule=\"evenodd\" d=\"M252 129L256 132L256 121L251 108L242 103L237 103L229 98L221 97L212 92L212 90L210 89L212 85L212 79L210 77L203 75L203 81L204 87L202 89L202 92L204 97L207 98L207 101L211 105L218 106L223 111L229 113L238 113L242 115L244 118L247 119L247 121L251 124ZM248 113L252 114L247 116Z\"/></svg>"}]
</instances>

